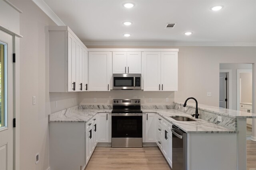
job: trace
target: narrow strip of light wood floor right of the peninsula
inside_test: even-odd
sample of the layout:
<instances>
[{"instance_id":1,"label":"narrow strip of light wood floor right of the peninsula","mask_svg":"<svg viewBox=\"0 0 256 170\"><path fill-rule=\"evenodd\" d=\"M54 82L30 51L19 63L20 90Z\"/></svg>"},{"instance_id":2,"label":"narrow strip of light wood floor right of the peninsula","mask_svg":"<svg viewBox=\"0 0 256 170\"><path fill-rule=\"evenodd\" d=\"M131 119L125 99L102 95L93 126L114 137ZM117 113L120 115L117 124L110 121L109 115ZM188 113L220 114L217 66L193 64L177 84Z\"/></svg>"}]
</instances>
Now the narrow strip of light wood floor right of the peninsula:
<instances>
[{"instance_id":1,"label":"narrow strip of light wood floor right of the peninsula","mask_svg":"<svg viewBox=\"0 0 256 170\"><path fill-rule=\"evenodd\" d=\"M256 169L256 141L247 140L247 170Z\"/></svg>"}]
</instances>

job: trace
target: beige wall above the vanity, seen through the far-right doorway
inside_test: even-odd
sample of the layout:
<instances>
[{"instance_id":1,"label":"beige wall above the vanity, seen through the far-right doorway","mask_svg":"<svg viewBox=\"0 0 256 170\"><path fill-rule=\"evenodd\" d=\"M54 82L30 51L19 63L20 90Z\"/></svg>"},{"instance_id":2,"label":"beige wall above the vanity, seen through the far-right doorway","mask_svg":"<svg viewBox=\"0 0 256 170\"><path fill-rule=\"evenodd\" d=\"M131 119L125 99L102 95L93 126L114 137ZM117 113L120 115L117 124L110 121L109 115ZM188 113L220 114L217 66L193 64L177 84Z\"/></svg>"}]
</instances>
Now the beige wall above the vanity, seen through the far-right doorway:
<instances>
[{"instance_id":1,"label":"beige wall above the vanity, seen through the far-right doorway","mask_svg":"<svg viewBox=\"0 0 256 170\"><path fill-rule=\"evenodd\" d=\"M241 103L252 103L252 73L241 72Z\"/></svg>"}]
</instances>

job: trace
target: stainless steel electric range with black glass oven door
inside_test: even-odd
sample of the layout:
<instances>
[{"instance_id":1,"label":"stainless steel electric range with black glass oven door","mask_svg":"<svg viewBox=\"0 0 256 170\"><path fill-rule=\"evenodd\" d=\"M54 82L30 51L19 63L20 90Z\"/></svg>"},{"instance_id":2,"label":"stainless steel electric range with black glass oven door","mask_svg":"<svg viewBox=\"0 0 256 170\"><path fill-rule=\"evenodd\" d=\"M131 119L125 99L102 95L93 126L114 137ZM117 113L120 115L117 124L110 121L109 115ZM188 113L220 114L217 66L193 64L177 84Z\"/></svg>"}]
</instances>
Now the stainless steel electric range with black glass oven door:
<instances>
[{"instance_id":1,"label":"stainless steel electric range with black glass oven door","mask_svg":"<svg viewBox=\"0 0 256 170\"><path fill-rule=\"evenodd\" d=\"M140 99L113 100L112 147L142 147Z\"/></svg>"}]
</instances>

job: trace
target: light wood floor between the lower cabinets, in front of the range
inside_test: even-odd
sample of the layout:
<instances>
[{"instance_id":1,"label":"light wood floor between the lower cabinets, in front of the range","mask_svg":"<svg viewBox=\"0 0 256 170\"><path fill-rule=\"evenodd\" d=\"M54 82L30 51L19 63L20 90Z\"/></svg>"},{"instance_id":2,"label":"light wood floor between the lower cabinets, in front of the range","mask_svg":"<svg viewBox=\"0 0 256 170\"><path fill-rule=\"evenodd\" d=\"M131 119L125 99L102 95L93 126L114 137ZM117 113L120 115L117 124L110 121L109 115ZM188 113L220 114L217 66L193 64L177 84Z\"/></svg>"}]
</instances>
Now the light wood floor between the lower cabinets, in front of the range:
<instances>
[{"instance_id":1,"label":"light wood floor between the lower cabinets, in front of the range","mask_svg":"<svg viewBox=\"0 0 256 170\"><path fill-rule=\"evenodd\" d=\"M170 170L158 147L96 147L86 170Z\"/></svg>"}]
</instances>

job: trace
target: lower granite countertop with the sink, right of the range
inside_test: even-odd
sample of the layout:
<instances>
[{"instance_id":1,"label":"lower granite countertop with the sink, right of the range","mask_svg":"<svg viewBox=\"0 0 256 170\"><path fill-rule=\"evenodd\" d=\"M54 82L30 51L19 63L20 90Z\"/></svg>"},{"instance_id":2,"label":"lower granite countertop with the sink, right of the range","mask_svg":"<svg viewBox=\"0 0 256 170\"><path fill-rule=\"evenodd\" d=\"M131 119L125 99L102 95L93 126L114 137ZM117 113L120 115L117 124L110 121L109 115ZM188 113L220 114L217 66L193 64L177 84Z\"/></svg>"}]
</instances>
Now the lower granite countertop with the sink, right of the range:
<instances>
[{"instance_id":1,"label":"lower granite countertop with the sink, right of the range","mask_svg":"<svg viewBox=\"0 0 256 170\"><path fill-rule=\"evenodd\" d=\"M194 117L176 109L142 109L142 111L143 113L158 113L167 121L169 121L173 125L178 126L186 133L237 133L237 131L227 129L220 125L216 125L202 119L195 119ZM190 117L191 119L195 119L197 121L176 121L170 116L185 116Z\"/></svg>"}]
</instances>

